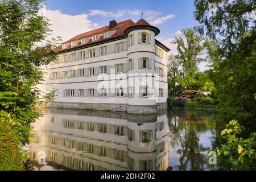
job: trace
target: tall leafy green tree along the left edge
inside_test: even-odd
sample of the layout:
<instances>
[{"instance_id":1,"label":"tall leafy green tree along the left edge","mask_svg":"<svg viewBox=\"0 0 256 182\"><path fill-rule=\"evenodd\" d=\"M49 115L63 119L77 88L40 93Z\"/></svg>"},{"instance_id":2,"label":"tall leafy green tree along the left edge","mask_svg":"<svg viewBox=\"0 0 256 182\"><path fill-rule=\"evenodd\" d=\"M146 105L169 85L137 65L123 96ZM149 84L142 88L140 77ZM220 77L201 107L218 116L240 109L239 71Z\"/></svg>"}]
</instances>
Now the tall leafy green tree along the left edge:
<instances>
[{"instance_id":1,"label":"tall leafy green tree along the left edge","mask_svg":"<svg viewBox=\"0 0 256 182\"><path fill-rule=\"evenodd\" d=\"M54 43L38 46L49 34L48 20L39 14L43 2L0 1L0 110L10 114L11 128L22 143L29 143L30 124L40 116L40 67L56 60Z\"/></svg>"}]
</instances>

